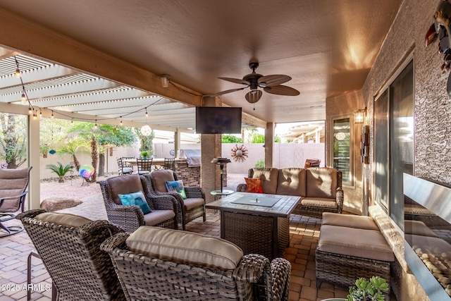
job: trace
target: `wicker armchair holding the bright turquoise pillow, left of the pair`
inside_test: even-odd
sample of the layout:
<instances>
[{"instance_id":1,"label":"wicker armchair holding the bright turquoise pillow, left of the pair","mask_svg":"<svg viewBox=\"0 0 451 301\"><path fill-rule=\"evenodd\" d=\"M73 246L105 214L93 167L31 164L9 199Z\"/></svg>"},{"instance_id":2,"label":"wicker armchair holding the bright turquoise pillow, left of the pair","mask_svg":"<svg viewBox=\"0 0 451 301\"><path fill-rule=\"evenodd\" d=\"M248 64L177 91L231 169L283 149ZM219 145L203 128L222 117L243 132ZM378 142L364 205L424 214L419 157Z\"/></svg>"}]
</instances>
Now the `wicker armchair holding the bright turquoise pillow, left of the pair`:
<instances>
[{"instance_id":1,"label":"wicker armchair holding the bright turquoise pillow, left of the pair","mask_svg":"<svg viewBox=\"0 0 451 301\"><path fill-rule=\"evenodd\" d=\"M106 214L111 223L132 233L140 226L159 226L163 228L178 228L177 202L169 195L150 195L145 185L142 185L137 174L116 176L98 181L101 194L104 197ZM144 186L144 187L143 187ZM152 210L144 214L140 207L124 206L118 195L126 195L142 190L146 202Z\"/></svg>"}]
</instances>

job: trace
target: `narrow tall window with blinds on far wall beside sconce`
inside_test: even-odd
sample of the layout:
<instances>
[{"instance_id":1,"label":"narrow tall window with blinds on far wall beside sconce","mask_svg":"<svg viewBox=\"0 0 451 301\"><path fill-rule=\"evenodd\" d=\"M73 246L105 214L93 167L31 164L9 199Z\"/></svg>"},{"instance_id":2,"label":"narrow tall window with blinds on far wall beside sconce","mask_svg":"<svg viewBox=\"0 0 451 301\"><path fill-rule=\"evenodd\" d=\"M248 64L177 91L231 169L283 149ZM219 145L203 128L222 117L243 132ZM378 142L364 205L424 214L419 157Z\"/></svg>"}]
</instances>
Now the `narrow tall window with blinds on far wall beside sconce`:
<instances>
[{"instance_id":1,"label":"narrow tall window with blinds on far wall beside sconce","mask_svg":"<svg viewBox=\"0 0 451 301\"><path fill-rule=\"evenodd\" d=\"M343 185L354 185L352 180L351 118L333 119L333 168L342 172Z\"/></svg>"}]
</instances>

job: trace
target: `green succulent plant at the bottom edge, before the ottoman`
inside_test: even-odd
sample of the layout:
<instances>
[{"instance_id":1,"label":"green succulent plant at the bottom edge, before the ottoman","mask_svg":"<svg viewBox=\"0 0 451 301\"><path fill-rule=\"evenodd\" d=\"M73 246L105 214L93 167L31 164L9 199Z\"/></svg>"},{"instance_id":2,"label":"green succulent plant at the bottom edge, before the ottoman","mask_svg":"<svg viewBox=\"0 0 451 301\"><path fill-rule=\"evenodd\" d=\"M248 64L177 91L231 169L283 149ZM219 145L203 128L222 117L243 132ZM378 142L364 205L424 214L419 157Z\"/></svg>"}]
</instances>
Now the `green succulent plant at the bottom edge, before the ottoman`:
<instances>
[{"instance_id":1,"label":"green succulent plant at the bottom edge, before the ottoman","mask_svg":"<svg viewBox=\"0 0 451 301\"><path fill-rule=\"evenodd\" d=\"M359 278L355 281L355 286L350 287L347 301L384 301L384 292L388 292L388 283L384 278L379 276L373 276L369 280Z\"/></svg>"}]
</instances>

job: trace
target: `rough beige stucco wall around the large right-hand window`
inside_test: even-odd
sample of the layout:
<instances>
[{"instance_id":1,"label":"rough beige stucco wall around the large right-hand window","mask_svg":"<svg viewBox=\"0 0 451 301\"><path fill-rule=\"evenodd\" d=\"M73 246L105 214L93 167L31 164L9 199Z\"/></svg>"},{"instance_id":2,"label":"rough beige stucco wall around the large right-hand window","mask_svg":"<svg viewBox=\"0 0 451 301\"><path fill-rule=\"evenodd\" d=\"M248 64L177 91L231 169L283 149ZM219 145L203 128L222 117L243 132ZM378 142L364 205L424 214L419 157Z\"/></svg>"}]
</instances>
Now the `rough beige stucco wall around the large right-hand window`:
<instances>
[{"instance_id":1,"label":"rough beige stucco wall around the large right-hand window","mask_svg":"<svg viewBox=\"0 0 451 301\"><path fill-rule=\"evenodd\" d=\"M393 23L383 47L378 54L376 63L362 88L364 106L368 107L367 121L370 125L371 153L370 162L373 161L373 99L385 85L393 79L406 59L413 54L414 59L414 114L415 114L415 146L414 146L414 174L438 180L443 183L451 183L451 100L446 92L446 84L449 73L442 73L440 65L442 56L437 52L438 42L425 46L424 37L428 27L433 23L433 15L438 0L404 0L400 12ZM340 109L340 112L356 111L354 103L358 97L349 94L343 97L328 99L327 112ZM343 108L342 106L347 106ZM328 113L329 116L329 113ZM328 117L328 121L330 119ZM327 154L330 154L328 149ZM359 161L356 156L355 161ZM357 173L356 173L357 176ZM362 195L372 196L371 185L373 183L373 164L362 166L364 181L369 183L368 189L362 191ZM361 188L362 189L362 186ZM356 188L352 197L362 197ZM347 190L347 193L351 193ZM347 196L349 204L350 199ZM371 199L371 203L373 200ZM346 203L345 203L346 204ZM396 227L394 227L396 229ZM403 241L402 233L390 229L390 233L384 229L385 238L393 245L397 260L402 269L399 276L400 296L398 300L418 300L419 295L424 295L419 283L410 272L404 262L404 250L395 241Z\"/></svg>"}]
</instances>

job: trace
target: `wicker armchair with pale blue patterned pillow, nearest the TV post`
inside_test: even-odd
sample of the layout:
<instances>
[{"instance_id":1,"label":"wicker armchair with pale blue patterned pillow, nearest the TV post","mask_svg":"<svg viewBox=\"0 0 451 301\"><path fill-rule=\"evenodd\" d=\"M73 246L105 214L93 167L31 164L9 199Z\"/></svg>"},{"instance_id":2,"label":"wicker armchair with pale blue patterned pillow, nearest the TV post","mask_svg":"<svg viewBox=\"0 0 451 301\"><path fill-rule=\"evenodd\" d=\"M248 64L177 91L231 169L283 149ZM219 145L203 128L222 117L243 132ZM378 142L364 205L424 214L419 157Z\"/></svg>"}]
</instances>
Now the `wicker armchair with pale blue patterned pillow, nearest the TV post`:
<instances>
[{"instance_id":1,"label":"wicker armchair with pale blue patterned pillow, nearest the TV post","mask_svg":"<svg viewBox=\"0 0 451 301\"><path fill-rule=\"evenodd\" d=\"M205 212L205 192L200 187L185 187L186 199L177 192L168 192L166 189L166 181L178 180L177 174L171 169L163 169L160 171L152 171L143 177L143 185L147 185L150 195L172 196L178 204L178 222L182 224L183 230L190 221L202 216L206 221Z\"/></svg>"}]
</instances>

